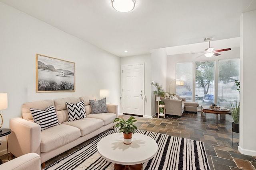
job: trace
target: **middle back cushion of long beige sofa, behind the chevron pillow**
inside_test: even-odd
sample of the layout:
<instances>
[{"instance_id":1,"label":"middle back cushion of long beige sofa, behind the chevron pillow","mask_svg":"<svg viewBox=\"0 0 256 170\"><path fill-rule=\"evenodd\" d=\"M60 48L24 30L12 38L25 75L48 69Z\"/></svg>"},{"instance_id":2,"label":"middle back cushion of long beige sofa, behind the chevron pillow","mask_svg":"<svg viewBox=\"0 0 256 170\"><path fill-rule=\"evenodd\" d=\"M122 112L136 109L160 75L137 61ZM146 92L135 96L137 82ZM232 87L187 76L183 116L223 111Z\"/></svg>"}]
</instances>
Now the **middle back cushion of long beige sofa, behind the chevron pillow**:
<instances>
[{"instance_id":1,"label":"middle back cushion of long beige sofa, behind the chevron pillow","mask_svg":"<svg viewBox=\"0 0 256 170\"><path fill-rule=\"evenodd\" d=\"M80 98L61 98L54 100L56 115L60 123L68 121L68 108L66 102L76 104L80 102Z\"/></svg>"}]
</instances>

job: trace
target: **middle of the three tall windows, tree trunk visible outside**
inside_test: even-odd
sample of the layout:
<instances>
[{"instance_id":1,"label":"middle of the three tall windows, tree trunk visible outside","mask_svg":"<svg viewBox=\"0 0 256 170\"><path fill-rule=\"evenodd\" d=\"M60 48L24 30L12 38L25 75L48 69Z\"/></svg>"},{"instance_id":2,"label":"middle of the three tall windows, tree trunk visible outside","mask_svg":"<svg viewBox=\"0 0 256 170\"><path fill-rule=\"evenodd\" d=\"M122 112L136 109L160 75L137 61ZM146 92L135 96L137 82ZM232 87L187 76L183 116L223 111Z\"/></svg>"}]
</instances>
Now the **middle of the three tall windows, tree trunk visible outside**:
<instances>
[{"instance_id":1,"label":"middle of the three tall windows, tree trunk visible outside","mask_svg":"<svg viewBox=\"0 0 256 170\"><path fill-rule=\"evenodd\" d=\"M196 62L196 102L199 105L214 103L214 61Z\"/></svg>"}]
</instances>

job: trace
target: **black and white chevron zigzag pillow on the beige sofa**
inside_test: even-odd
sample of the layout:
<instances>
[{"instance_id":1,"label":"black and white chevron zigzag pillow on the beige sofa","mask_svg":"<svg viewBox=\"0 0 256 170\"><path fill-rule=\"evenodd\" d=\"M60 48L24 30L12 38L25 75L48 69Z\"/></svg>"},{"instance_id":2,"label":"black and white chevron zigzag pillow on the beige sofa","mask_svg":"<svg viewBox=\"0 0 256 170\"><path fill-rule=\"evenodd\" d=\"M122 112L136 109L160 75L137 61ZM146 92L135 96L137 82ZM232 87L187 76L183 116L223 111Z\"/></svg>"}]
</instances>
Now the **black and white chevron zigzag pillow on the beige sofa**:
<instances>
[{"instance_id":1,"label":"black and white chevron zigzag pillow on the beige sofa","mask_svg":"<svg viewBox=\"0 0 256 170\"><path fill-rule=\"evenodd\" d=\"M68 121L74 121L78 119L86 118L84 109L84 100L76 104L67 103L68 108Z\"/></svg>"}]
</instances>

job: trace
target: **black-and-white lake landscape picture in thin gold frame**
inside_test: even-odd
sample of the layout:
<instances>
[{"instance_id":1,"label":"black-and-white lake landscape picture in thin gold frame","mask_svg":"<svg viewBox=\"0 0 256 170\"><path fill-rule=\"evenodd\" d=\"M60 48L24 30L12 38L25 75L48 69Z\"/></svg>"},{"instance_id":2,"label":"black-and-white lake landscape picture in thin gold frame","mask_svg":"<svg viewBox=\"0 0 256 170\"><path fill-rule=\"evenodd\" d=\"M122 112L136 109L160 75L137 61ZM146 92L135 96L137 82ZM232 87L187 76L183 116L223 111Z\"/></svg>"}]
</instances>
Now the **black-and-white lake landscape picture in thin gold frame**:
<instances>
[{"instance_id":1,"label":"black-and-white lake landscape picture in thin gold frame","mask_svg":"<svg viewBox=\"0 0 256 170\"><path fill-rule=\"evenodd\" d=\"M36 54L36 92L75 92L75 63Z\"/></svg>"}]
</instances>

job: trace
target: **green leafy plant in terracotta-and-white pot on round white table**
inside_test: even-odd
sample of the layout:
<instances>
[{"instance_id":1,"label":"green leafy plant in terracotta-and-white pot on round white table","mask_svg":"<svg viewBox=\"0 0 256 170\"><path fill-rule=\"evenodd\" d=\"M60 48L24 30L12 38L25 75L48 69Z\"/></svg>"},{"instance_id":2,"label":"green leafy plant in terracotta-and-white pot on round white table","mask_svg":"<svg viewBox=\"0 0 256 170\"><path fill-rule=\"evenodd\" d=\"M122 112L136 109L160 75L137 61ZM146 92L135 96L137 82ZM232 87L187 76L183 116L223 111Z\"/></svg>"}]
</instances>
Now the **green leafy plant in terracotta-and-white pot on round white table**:
<instances>
[{"instance_id":1,"label":"green leafy plant in terracotta-and-white pot on round white table","mask_svg":"<svg viewBox=\"0 0 256 170\"><path fill-rule=\"evenodd\" d=\"M124 120L122 117L117 117L114 119L114 122L119 121L116 123L116 127L118 127L119 132L123 132L124 134L124 144L131 144L132 143L132 134L135 133L135 131L138 129L136 125L134 125L134 122L137 120L135 117L130 117L128 120Z\"/></svg>"}]
</instances>

